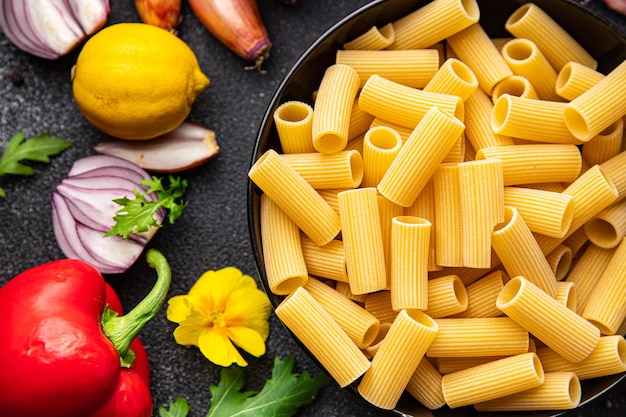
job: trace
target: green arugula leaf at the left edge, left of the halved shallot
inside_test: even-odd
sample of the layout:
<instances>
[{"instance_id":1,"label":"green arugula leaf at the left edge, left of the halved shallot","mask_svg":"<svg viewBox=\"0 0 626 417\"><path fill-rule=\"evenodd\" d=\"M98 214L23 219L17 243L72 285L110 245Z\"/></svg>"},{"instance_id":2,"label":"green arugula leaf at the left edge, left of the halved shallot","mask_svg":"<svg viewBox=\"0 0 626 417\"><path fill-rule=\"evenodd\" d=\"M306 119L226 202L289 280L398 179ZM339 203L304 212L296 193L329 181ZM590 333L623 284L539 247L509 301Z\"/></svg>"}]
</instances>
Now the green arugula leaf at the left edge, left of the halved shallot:
<instances>
[{"instance_id":1,"label":"green arugula leaf at the left edge, left of the halved shallot","mask_svg":"<svg viewBox=\"0 0 626 417\"><path fill-rule=\"evenodd\" d=\"M47 133L40 133L28 140L24 133L17 133L9 140L0 156L0 175L33 175L33 168L20 163L21 161L49 163L51 155L58 155L70 146L69 141L56 136L48 136ZM2 188L0 188L0 197L6 197Z\"/></svg>"}]
</instances>

